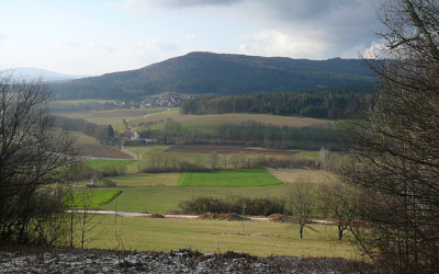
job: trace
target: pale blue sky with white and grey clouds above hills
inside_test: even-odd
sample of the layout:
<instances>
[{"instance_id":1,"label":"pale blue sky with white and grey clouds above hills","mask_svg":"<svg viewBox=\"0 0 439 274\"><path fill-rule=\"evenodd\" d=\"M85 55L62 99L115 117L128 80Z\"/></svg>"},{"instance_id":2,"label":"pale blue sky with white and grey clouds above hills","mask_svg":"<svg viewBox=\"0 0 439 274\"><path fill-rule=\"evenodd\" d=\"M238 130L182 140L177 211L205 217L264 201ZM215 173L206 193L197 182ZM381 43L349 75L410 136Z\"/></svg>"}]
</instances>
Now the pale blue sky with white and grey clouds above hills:
<instances>
[{"instance_id":1,"label":"pale blue sky with white and grey clouds above hills","mask_svg":"<svg viewBox=\"0 0 439 274\"><path fill-rule=\"evenodd\" d=\"M369 55L382 0L1 0L0 67L138 69L191 52Z\"/></svg>"}]
</instances>

